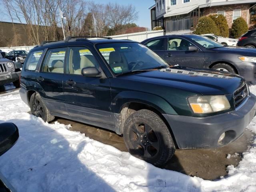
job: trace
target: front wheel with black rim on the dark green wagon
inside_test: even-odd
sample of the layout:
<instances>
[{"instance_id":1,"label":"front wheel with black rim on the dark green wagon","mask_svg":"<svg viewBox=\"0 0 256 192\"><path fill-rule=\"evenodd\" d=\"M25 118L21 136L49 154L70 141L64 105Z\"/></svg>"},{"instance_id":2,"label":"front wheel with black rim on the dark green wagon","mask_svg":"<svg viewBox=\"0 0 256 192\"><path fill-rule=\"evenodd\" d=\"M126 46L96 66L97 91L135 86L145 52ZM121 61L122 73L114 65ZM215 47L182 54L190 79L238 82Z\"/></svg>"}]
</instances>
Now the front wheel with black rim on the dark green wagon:
<instances>
[{"instance_id":1,"label":"front wheel with black rim on the dark green wagon","mask_svg":"<svg viewBox=\"0 0 256 192\"><path fill-rule=\"evenodd\" d=\"M124 124L124 142L133 156L156 166L165 164L176 148L163 120L150 110L139 110Z\"/></svg>"}]
</instances>

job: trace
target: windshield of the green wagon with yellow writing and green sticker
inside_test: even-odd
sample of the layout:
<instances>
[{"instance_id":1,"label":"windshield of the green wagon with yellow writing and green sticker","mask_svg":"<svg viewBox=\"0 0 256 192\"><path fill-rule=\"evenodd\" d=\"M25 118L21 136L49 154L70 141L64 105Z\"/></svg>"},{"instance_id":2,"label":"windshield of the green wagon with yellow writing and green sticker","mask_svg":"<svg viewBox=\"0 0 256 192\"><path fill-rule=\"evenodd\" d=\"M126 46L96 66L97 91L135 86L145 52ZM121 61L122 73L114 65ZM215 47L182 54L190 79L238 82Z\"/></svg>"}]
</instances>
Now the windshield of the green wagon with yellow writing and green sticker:
<instances>
[{"instance_id":1,"label":"windshield of the green wagon with yellow writing and green sticker","mask_svg":"<svg viewBox=\"0 0 256 192\"><path fill-rule=\"evenodd\" d=\"M107 43L96 47L115 74L169 66L160 56L139 43Z\"/></svg>"}]
</instances>

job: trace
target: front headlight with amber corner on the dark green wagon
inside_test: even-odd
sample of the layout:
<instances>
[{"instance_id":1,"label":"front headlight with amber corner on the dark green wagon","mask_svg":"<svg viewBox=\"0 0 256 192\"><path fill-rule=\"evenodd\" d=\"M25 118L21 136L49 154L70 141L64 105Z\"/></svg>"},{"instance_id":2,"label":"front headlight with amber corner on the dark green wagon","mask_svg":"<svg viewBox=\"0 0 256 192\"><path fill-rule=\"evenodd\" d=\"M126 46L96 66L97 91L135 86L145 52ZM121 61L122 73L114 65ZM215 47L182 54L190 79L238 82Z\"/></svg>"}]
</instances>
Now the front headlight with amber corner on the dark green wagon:
<instances>
[{"instance_id":1,"label":"front headlight with amber corner on the dark green wagon","mask_svg":"<svg viewBox=\"0 0 256 192\"><path fill-rule=\"evenodd\" d=\"M188 103L194 113L205 114L230 109L230 103L225 95L191 96Z\"/></svg>"}]
</instances>

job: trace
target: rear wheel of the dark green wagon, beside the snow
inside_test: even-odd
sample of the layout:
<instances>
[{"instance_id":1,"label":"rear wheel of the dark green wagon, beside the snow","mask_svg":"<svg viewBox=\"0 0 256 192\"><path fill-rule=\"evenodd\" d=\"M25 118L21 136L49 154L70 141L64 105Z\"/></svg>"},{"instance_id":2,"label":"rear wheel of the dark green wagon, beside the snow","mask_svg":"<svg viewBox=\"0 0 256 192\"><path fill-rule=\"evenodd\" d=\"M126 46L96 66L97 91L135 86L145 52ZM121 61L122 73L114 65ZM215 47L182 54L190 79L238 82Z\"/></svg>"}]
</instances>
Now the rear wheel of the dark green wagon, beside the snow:
<instances>
[{"instance_id":1,"label":"rear wheel of the dark green wagon, beside the snow","mask_svg":"<svg viewBox=\"0 0 256 192\"><path fill-rule=\"evenodd\" d=\"M30 104L31 113L33 115L40 117L45 122L49 122L49 123L54 120L54 116L50 114L40 94L38 93L32 94L29 104Z\"/></svg>"}]
</instances>

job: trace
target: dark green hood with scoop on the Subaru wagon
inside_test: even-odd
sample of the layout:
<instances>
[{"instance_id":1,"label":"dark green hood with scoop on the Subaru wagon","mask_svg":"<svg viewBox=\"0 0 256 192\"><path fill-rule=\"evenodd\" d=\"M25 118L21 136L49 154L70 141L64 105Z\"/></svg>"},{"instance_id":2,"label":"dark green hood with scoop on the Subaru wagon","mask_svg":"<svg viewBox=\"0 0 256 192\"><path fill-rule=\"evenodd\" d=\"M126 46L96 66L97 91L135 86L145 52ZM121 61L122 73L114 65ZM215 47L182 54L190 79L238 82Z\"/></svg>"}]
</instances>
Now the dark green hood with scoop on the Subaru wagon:
<instances>
[{"instance_id":1,"label":"dark green hood with scoop on the Subaru wagon","mask_svg":"<svg viewBox=\"0 0 256 192\"><path fill-rule=\"evenodd\" d=\"M202 95L233 94L245 82L236 74L186 67L141 72L127 75L126 78Z\"/></svg>"}]
</instances>

